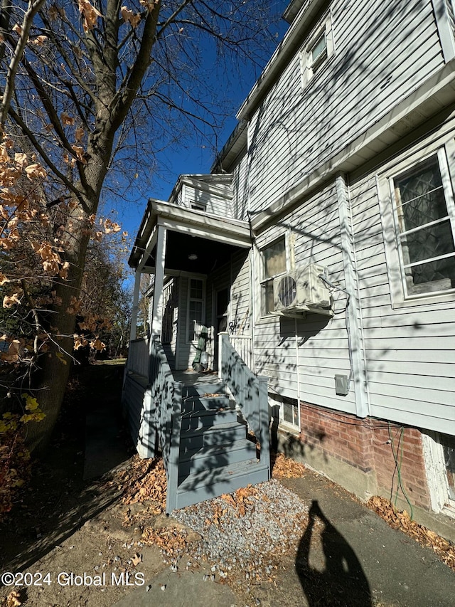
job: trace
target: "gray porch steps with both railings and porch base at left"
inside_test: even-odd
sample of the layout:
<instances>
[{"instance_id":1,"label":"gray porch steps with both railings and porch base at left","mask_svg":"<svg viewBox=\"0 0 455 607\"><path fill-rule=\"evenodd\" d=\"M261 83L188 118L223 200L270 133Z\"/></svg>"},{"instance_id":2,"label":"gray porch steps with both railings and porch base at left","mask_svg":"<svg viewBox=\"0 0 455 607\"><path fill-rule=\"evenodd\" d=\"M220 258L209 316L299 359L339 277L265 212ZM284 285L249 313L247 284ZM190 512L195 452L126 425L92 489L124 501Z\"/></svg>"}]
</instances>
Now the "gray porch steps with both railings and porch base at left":
<instances>
[{"instance_id":1,"label":"gray porch steps with both railings and porch base at left","mask_svg":"<svg viewBox=\"0 0 455 607\"><path fill-rule=\"evenodd\" d=\"M130 344L122 402L141 458L161 454L166 512L269 479L267 378L220 334L219 371L172 371L159 337Z\"/></svg>"}]
</instances>

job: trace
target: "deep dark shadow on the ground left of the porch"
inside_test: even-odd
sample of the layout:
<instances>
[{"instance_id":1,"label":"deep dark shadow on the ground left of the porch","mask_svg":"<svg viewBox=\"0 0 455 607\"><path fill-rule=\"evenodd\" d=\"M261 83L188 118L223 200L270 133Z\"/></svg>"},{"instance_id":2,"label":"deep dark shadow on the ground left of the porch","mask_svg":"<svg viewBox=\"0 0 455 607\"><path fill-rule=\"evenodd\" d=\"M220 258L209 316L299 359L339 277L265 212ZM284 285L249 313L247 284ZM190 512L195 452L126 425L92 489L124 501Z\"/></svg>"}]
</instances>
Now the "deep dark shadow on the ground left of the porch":
<instances>
[{"instance_id":1,"label":"deep dark shadow on the ground left of the porch","mask_svg":"<svg viewBox=\"0 0 455 607\"><path fill-rule=\"evenodd\" d=\"M124 361L102 361L73 374L50 445L0 525L2 571L20 571L40 559L117 499L109 470L133 453L122 427L123 370Z\"/></svg>"}]
</instances>

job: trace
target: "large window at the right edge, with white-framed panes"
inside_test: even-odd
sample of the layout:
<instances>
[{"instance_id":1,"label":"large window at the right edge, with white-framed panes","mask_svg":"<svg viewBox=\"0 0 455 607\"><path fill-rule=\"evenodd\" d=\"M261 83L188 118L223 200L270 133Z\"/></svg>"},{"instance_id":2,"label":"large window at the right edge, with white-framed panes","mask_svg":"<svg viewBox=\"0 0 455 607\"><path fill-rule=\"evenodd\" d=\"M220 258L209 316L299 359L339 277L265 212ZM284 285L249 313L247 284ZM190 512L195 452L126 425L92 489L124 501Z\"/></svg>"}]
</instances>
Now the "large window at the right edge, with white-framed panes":
<instances>
[{"instance_id":1,"label":"large window at the right edge, with white-framed panes","mask_svg":"<svg viewBox=\"0 0 455 607\"><path fill-rule=\"evenodd\" d=\"M444 150L391 179L405 297L455 287L454 199Z\"/></svg>"}]
</instances>

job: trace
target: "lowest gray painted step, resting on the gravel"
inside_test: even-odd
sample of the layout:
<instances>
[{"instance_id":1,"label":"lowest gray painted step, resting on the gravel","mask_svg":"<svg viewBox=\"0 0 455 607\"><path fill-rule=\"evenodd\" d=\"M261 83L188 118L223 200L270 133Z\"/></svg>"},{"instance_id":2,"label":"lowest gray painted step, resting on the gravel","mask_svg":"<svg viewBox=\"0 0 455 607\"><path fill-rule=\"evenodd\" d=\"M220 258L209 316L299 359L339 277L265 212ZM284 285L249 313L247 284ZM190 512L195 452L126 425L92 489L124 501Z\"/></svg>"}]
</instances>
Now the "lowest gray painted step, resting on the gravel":
<instances>
[{"instance_id":1,"label":"lowest gray painted step, resting on the gravel","mask_svg":"<svg viewBox=\"0 0 455 607\"><path fill-rule=\"evenodd\" d=\"M191 474L177 488L176 507L191 506L266 480L269 480L269 468L256 459Z\"/></svg>"}]
</instances>

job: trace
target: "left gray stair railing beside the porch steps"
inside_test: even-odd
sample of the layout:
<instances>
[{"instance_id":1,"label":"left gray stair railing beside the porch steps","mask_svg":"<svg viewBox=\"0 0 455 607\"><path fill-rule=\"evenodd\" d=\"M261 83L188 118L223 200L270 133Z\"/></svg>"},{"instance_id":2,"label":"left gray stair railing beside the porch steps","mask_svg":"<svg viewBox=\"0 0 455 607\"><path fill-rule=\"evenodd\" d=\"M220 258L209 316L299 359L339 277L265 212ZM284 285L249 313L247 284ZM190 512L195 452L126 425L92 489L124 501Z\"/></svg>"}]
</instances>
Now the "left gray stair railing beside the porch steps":
<instances>
[{"instance_id":1,"label":"left gray stair railing beside the porch steps","mask_svg":"<svg viewBox=\"0 0 455 607\"><path fill-rule=\"evenodd\" d=\"M178 452L180 449L182 384L175 381L158 335L152 335L149 347L151 442L154 455L161 447L167 477L166 512L177 503Z\"/></svg>"}]
</instances>

